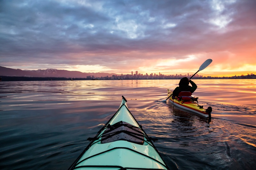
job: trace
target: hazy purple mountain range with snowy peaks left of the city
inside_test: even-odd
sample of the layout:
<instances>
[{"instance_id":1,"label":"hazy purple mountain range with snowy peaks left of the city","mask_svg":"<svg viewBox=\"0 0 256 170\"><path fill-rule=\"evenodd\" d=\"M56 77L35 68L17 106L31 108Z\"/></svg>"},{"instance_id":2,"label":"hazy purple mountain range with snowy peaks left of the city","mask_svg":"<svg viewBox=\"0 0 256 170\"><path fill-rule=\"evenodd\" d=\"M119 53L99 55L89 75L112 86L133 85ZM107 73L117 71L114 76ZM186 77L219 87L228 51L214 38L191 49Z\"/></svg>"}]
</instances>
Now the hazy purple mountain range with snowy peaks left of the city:
<instances>
[{"instance_id":1,"label":"hazy purple mountain range with snowy peaks left of the city","mask_svg":"<svg viewBox=\"0 0 256 170\"><path fill-rule=\"evenodd\" d=\"M83 73L80 71L68 71L58 69L39 69L39 70L20 70L11 69L0 66L0 76L18 76L18 77L64 77L64 78L86 78L87 76L97 77L112 77L115 73Z\"/></svg>"}]
</instances>

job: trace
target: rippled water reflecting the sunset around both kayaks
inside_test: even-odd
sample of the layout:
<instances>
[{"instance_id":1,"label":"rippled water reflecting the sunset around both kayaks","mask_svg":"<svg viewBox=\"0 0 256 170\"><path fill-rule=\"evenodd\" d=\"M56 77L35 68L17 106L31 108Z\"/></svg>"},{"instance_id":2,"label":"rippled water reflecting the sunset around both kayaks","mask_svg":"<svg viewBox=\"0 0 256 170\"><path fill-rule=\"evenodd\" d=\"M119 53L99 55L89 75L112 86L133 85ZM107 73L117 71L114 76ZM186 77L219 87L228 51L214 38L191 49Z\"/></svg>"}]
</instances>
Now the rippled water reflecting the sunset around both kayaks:
<instances>
[{"instance_id":1,"label":"rippled water reflecting the sunset around both kayaks","mask_svg":"<svg viewBox=\"0 0 256 170\"><path fill-rule=\"evenodd\" d=\"M255 169L256 79L194 80L209 124L163 101L178 82L0 82L0 169L67 169L122 95L171 169Z\"/></svg>"}]
</instances>

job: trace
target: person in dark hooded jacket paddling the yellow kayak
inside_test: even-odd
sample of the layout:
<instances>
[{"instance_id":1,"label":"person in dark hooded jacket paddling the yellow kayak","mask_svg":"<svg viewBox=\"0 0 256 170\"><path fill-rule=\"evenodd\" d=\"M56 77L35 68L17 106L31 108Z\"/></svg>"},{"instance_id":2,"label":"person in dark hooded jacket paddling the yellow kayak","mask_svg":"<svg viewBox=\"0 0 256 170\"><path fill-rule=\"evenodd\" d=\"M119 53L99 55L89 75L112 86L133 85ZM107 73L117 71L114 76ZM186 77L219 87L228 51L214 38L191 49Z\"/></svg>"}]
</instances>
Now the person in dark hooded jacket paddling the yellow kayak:
<instances>
[{"instance_id":1,"label":"person in dark hooded jacket paddling the yellow kayak","mask_svg":"<svg viewBox=\"0 0 256 170\"><path fill-rule=\"evenodd\" d=\"M189 83L192 85L192 87L189 85ZM173 90L172 99L175 99L180 92L187 91L187 92L193 93L196 91L196 88L197 88L196 83L194 83L190 78L183 77L180 79L179 87L176 87Z\"/></svg>"}]
</instances>

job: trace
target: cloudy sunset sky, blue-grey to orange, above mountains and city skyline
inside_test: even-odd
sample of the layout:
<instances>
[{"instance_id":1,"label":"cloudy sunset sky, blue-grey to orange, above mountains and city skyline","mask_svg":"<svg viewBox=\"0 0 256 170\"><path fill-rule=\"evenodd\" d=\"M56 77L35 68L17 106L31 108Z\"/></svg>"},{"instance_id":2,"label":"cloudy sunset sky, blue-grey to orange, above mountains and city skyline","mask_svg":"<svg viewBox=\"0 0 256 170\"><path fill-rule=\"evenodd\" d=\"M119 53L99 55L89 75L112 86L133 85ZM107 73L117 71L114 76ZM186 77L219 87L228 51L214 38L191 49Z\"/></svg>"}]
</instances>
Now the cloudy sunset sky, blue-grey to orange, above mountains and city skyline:
<instances>
[{"instance_id":1,"label":"cloudy sunset sky, blue-grey to orange, above mountains and city skyline","mask_svg":"<svg viewBox=\"0 0 256 170\"><path fill-rule=\"evenodd\" d=\"M255 0L0 0L0 66L256 74Z\"/></svg>"}]
</instances>

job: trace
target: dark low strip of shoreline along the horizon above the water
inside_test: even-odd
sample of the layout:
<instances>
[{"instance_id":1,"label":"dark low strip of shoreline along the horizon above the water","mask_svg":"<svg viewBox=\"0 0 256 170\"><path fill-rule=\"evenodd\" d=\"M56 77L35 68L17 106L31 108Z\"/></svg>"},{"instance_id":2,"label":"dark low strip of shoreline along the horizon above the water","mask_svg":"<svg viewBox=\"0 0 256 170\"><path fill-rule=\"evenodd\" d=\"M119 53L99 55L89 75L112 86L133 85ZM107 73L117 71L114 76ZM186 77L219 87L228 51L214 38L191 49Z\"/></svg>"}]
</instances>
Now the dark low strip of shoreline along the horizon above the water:
<instances>
[{"instance_id":1,"label":"dark low strip of shoreline along the horizon above the water","mask_svg":"<svg viewBox=\"0 0 256 170\"><path fill-rule=\"evenodd\" d=\"M70 81L72 80L159 80L159 79L165 79L165 80L175 80L175 79L181 79L182 77L178 78L144 78L144 79L136 79L136 78L125 78L125 79L113 79L112 77L109 77L108 79L102 79L102 78L61 78L61 77L19 77L19 76L0 76L0 81ZM237 76L237 77L194 77L193 79L256 79L255 75L246 75L246 76Z\"/></svg>"}]
</instances>

